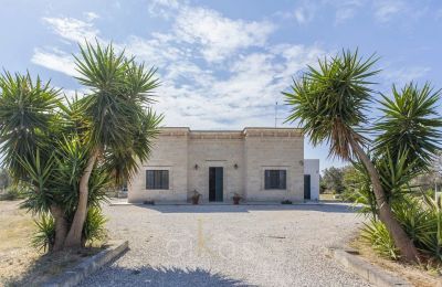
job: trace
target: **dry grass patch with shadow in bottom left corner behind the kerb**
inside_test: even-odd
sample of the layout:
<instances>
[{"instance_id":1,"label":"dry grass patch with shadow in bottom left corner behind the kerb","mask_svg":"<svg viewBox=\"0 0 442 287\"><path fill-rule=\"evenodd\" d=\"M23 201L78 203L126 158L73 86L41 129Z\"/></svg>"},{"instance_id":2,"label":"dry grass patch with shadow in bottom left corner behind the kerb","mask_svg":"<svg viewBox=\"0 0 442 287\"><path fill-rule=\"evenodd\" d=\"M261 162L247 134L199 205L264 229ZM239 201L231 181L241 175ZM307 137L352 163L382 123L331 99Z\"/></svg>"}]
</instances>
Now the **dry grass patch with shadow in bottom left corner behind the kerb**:
<instances>
[{"instance_id":1,"label":"dry grass patch with shadow in bottom left corner behind the kerb","mask_svg":"<svg viewBox=\"0 0 442 287\"><path fill-rule=\"evenodd\" d=\"M20 201L0 201L0 286L38 286L98 248L75 253L39 253L31 246L35 231Z\"/></svg>"}]
</instances>

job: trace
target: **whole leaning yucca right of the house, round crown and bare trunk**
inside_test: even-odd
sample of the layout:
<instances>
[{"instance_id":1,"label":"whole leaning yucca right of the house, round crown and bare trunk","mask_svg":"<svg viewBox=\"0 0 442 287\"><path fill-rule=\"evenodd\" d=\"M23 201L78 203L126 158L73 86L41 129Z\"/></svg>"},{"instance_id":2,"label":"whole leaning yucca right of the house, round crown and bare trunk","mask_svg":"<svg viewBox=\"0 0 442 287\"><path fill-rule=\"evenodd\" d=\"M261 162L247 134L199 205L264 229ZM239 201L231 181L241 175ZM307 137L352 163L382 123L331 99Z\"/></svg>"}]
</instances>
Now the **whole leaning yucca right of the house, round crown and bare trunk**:
<instances>
[{"instance_id":1,"label":"whole leaning yucca right of the house, round crown and bare trunk","mask_svg":"<svg viewBox=\"0 0 442 287\"><path fill-rule=\"evenodd\" d=\"M372 70L375 55L364 60L358 52L318 61L318 68L308 66L307 72L294 81L291 93L283 93L293 106L288 121L298 121L314 146L326 142L329 156L344 160L359 159L366 167L376 196L379 219L391 233L406 261L418 259L418 251L399 222L394 219L379 173L365 148L369 138L361 135L368 124L367 111L372 104L371 78L379 73Z\"/></svg>"}]
</instances>

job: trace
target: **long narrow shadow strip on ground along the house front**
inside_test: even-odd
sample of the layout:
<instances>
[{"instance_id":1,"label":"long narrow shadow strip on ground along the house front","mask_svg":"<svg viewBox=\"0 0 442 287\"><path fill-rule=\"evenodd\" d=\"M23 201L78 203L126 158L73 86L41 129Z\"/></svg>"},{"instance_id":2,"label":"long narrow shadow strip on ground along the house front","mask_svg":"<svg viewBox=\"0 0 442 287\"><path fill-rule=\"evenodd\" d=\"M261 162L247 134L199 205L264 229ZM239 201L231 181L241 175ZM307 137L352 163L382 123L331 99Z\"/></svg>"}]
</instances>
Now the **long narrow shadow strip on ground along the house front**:
<instances>
[{"instance_id":1,"label":"long narrow shadow strip on ground along the house front","mask_svg":"<svg viewBox=\"0 0 442 287\"><path fill-rule=\"evenodd\" d=\"M355 213L358 208L341 203L326 204L256 204L256 205L231 205L231 204L201 204L201 205L149 205L137 204L136 206L158 211L161 213L248 213L251 211L315 211L327 213ZM118 206L116 206L118 208Z\"/></svg>"}]
</instances>

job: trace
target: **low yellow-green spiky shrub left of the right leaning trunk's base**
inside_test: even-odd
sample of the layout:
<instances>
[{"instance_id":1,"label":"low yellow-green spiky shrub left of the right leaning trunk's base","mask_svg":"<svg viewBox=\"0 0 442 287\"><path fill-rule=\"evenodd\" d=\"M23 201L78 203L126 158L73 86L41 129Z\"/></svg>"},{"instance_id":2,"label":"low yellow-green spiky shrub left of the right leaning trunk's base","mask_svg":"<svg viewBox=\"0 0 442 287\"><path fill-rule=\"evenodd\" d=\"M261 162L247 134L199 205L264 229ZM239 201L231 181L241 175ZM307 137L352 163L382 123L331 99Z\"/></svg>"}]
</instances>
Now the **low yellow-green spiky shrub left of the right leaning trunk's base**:
<instances>
[{"instance_id":1,"label":"low yellow-green spiky shrub left of the right leaning trunk's base","mask_svg":"<svg viewBox=\"0 0 442 287\"><path fill-rule=\"evenodd\" d=\"M361 236L379 255L394 261L400 258L399 249L382 222L371 220L370 223L365 223Z\"/></svg>"}]
</instances>

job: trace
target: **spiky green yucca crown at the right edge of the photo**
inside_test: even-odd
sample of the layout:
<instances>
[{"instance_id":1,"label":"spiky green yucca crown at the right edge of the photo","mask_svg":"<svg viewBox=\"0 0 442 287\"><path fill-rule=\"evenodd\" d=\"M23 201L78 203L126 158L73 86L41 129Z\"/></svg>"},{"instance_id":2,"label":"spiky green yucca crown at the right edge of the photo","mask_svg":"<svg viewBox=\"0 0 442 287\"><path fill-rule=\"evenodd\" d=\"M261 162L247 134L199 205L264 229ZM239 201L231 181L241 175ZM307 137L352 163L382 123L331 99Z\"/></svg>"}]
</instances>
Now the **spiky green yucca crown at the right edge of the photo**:
<instances>
[{"instance_id":1,"label":"spiky green yucca crown at the right edge of the photo","mask_svg":"<svg viewBox=\"0 0 442 287\"><path fill-rule=\"evenodd\" d=\"M415 161L414 168L427 170L441 148L440 99L441 89L434 91L428 83L422 88L410 83L400 91L393 85L392 98L382 95L380 102L383 115L376 125L376 152L389 151L397 157L407 150L407 161Z\"/></svg>"}]
</instances>

